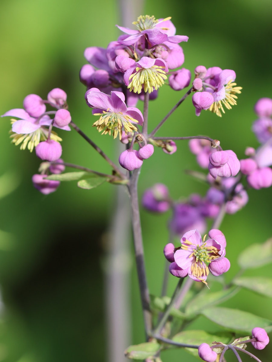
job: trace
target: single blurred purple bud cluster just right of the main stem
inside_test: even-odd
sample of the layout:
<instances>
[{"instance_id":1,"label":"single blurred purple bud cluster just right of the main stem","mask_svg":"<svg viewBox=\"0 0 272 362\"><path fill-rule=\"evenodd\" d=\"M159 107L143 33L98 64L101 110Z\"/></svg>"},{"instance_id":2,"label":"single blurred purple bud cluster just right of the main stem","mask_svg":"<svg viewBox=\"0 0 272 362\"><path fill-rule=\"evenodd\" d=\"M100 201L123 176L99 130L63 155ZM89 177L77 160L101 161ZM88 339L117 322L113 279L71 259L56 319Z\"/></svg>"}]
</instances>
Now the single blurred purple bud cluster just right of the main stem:
<instances>
[{"instance_id":1,"label":"single blurred purple bud cluster just right of the main stem","mask_svg":"<svg viewBox=\"0 0 272 362\"><path fill-rule=\"evenodd\" d=\"M166 212L170 208L168 188L163 184L155 184L145 190L142 205L148 211Z\"/></svg>"}]
</instances>

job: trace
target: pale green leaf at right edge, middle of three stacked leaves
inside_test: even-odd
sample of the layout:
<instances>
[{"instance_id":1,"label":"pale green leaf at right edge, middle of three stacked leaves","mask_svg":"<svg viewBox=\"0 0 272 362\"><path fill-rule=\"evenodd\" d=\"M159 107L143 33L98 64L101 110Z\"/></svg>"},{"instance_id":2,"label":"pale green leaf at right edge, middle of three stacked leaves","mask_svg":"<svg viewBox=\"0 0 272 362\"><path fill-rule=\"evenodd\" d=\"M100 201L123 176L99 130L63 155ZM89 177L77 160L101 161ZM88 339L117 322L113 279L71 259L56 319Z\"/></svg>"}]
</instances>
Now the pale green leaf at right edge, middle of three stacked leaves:
<instances>
[{"instance_id":1,"label":"pale green leaf at right edge, middle of three stacked leaves","mask_svg":"<svg viewBox=\"0 0 272 362\"><path fill-rule=\"evenodd\" d=\"M247 288L256 293L272 297L272 278L268 277L239 277L233 284Z\"/></svg>"}]
</instances>

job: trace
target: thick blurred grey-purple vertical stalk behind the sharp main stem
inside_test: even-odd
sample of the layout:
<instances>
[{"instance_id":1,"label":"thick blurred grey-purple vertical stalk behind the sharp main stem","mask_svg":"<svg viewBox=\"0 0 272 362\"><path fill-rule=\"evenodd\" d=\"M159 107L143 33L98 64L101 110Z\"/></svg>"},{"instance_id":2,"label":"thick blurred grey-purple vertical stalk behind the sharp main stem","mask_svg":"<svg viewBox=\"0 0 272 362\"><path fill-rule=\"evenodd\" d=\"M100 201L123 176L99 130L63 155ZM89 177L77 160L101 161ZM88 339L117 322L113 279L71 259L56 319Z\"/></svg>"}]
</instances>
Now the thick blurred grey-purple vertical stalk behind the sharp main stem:
<instances>
[{"instance_id":1,"label":"thick blurred grey-purple vertical stalk behind the sharp main stem","mask_svg":"<svg viewBox=\"0 0 272 362\"><path fill-rule=\"evenodd\" d=\"M127 28L141 15L143 0L118 0L121 24ZM117 142L117 156L124 145ZM125 362L124 350L130 344L130 205L124 186L117 186L109 230L109 258L106 276L106 308L108 326L108 361Z\"/></svg>"}]
</instances>

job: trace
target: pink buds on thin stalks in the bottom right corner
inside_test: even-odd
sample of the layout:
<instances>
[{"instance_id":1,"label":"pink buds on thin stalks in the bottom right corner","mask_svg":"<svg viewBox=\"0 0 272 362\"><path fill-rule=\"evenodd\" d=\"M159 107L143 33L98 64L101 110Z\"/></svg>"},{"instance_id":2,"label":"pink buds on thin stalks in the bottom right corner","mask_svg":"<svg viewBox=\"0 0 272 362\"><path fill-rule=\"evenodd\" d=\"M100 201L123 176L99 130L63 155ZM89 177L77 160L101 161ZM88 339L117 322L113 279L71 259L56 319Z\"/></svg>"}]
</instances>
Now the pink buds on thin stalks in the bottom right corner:
<instances>
[{"instance_id":1,"label":"pink buds on thin stalks in the bottom right corner","mask_svg":"<svg viewBox=\"0 0 272 362\"><path fill-rule=\"evenodd\" d=\"M269 337L266 331L260 327L253 328L251 333L252 336L237 338L229 345L220 342L213 342L210 345L208 343L202 343L198 347L198 355L201 359L203 359L203 361L206 362L218 361L218 356L220 356L220 361L223 361L223 355L225 354L226 350L230 349L234 352L238 361L241 361L238 352L244 352L257 361L260 361L252 353L245 350L247 346L246 344L251 342L254 348L259 350L264 349L265 346L269 343Z\"/></svg>"}]
</instances>

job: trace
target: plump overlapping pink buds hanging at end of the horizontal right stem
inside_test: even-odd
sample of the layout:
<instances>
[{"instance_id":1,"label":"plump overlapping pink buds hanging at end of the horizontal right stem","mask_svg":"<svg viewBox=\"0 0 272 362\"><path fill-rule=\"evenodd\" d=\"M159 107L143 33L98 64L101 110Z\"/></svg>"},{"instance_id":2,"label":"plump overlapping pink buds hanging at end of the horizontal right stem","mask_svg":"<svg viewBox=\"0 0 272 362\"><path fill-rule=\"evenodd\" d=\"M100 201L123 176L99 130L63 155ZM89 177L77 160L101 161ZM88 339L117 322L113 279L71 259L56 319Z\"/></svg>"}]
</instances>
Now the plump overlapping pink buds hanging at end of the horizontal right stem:
<instances>
[{"instance_id":1,"label":"plump overlapping pink buds hanging at end of the horizontal right stem","mask_svg":"<svg viewBox=\"0 0 272 362\"><path fill-rule=\"evenodd\" d=\"M209 161L208 169L214 178L236 176L240 170L240 162L231 150L214 152Z\"/></svg>"}]
</instances>

